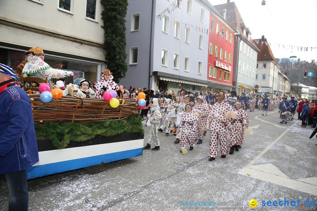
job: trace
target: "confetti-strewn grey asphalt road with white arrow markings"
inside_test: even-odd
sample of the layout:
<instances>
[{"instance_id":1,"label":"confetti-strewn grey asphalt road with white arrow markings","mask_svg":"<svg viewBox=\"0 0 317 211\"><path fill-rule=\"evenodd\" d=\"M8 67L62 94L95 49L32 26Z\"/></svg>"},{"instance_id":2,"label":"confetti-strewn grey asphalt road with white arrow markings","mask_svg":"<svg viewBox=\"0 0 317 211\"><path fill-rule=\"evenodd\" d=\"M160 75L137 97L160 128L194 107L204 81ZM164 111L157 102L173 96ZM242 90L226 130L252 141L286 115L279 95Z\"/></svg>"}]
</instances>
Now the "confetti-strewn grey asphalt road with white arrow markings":
<instances>
[{"instance_id":1,"label":"confetti-strewn grey asphalt road with white arrow markings","mask_svg":"<svg viewBox=\"0 0 317 211\"><path fill-rule=\"evenodd\" d=\"M276 109L261 114L249 112L254 134L226 158L208 161L209 131L187 155L175 136L159 133L159 151L113 162L103 172L79 169L29 180L29 210L251 210L251 199L254 210L317 210L313 128L301 128L299 120L280 124ZM7 210L5 180L0 190L0 210Z\"/></svg>"}]
</instances>

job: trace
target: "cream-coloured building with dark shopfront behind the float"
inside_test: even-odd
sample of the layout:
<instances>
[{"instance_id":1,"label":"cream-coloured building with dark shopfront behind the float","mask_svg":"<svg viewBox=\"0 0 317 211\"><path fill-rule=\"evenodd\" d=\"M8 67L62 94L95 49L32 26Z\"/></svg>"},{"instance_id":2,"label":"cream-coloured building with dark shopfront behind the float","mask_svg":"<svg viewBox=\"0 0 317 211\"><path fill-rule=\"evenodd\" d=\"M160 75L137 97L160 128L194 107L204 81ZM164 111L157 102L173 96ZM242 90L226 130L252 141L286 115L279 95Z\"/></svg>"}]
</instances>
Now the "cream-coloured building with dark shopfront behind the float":
<instances>
[{"instance_id":1,"label":"cream-coloured building with dark shopfront behind the float","mask_svg":"<svg viewBox=\"0 0 317 211\"><path fill-rule=\"evenodd\" d=\"M0 62L16 70L25 51L40 47L49 65L75 72L67 83L99 80L106 68L102 10L96 0L1 1Z\"/></svg>"}]
</instances>

